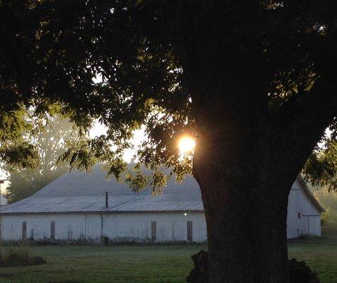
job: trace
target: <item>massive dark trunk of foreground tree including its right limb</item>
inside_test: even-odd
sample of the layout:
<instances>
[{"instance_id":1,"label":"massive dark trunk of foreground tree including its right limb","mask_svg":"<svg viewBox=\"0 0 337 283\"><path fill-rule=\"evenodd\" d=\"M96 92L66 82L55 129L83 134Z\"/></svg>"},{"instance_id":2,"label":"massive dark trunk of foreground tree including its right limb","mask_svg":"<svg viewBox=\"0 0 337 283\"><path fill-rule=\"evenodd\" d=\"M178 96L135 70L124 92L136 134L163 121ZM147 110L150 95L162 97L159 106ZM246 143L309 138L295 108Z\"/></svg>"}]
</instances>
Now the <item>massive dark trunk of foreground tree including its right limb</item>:
<instances>
[{"instance_id":1,"label":"massive dark trunk of foreground tree including its right limb","mask_svg":"<svg viewBox=\"0 0 337 283\"><path fill-rule=\"evenodd\" d=\"M324 86L333 81L274 109L261 5L246 2L188 6L177 54L193 101L193 175L205 208L210 283L287 283L287 197L336 116L326 104L336 105L333 90Z\"/></svg>"}]
</instances>

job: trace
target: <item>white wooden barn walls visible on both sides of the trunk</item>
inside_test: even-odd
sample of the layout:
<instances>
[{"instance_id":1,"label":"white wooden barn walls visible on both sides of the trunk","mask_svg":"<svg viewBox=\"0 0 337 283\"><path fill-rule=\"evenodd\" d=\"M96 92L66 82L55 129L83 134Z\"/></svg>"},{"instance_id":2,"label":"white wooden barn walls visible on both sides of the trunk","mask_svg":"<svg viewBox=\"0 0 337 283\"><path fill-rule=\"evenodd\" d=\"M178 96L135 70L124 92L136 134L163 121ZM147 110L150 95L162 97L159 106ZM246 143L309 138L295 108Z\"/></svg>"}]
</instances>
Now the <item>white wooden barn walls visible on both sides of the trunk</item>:
<instances>
[{"instance_id":1,"label":"white wooden barn walls visible on both sides of the trunk","mask_svg":"<svg viewBox=\"0 0 337 283\"><path fill-rule=\"evenodd\" d=\"M195 242L207 239L202 212L188 213L186 216L183 212L0 214L0 238L21 240L23 222L26 238L50 238L52 221L55 222L56 239L101 241L102 236L107 236L111 241L188 241L191 236ZM305 194L299 180L296 180L288 198L287 238L305 234L321 235L321 214Z\"/></svg>"}]
</instances>

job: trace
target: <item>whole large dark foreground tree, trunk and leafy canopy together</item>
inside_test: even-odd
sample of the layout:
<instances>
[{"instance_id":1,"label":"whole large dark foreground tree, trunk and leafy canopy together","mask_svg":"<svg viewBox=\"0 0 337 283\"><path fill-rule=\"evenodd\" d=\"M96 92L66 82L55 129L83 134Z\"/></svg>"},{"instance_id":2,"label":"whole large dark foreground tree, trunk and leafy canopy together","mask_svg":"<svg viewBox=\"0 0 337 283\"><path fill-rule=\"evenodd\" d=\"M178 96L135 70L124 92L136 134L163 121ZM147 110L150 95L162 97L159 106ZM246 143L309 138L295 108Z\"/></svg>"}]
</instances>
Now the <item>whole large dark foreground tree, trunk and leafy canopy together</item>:
<instances>
[{"instance_id":1,"label":"whole large dark foreground tree, trunk and leafy canopy together","mask_svg":"<svg viewBox=\"0 0 337 283\"><path fill-rule=\"evenodd\" d=\"M324 130L336 133L336 5L1 1L1 157L33 159L14 142L16 113L59 103L84 131L93 119L108 127L64 158L104 161L118 177L144 125L152 185L164 183L160 165L200 185L210 282L288 282L287 196ZM183 135L196 139L193 167L178 153Z\"/></svg>"}]
</instances>

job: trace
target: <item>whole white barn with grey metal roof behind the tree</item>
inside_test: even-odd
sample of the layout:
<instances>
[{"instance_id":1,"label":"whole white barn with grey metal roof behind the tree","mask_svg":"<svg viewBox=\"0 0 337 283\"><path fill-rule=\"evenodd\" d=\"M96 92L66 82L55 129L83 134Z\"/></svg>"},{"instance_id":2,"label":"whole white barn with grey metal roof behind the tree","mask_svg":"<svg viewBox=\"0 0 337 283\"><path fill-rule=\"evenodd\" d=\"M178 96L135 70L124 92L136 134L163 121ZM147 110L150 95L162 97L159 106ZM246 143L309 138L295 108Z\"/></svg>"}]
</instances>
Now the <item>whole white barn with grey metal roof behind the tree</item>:
<instances>
[{"instance_id":1,"label":"whole white barn with grey metal roof behind the tree","mask_svg":"<svg viewBox=\"0 0 337 283\"><path fill-rule=\"evenodd\" d=\"M164 194L153 196L150 188L135 193L105 176L101 166L91 173L66 173L32 197L2 207L1 239L206 241L200 189L193 177L183 183L169 180ZM287 237L320 236L321 212L299 175L289 195Z\"/></svg>"}]
</instances>

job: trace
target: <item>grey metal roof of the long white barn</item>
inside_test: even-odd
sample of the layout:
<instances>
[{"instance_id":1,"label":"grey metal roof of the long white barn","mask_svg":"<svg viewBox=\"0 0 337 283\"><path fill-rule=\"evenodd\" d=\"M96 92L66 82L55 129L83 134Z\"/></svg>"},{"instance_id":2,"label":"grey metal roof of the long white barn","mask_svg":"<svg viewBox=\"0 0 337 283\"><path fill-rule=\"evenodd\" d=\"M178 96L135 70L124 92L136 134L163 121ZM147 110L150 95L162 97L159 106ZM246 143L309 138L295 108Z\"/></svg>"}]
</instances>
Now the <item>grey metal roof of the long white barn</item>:
<instances>
[{"instance_id":1,"label":"grey metal roof of the long white barn","mask_svg":"<svg viewBox=\"0 0 337 283\"><path fill-rule=\"evenodd\" d=\"M107 179L101 167L94 166L91 173L66 173L35 195L1 208L1 214L203 211L200 188L192 176L182 183L171 178L164 194L154 196L150 187L135 193L127 183ZM108 192L108 208L105 192Z\"/></svg>"}]
</instances>

